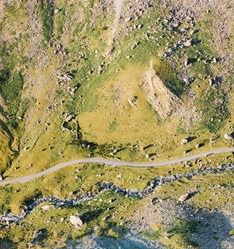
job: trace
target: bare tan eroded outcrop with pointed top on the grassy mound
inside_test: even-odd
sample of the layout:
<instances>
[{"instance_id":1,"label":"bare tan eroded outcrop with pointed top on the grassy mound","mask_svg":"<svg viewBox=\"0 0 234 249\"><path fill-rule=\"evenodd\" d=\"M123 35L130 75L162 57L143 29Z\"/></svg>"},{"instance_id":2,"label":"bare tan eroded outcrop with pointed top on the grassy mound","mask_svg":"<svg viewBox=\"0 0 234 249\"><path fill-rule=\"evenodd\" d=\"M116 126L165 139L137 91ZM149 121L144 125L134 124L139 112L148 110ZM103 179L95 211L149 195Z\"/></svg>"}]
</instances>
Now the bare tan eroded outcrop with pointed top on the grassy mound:
<instances>
[{"instance_id":1,"label":"bare tan eroded outcrop with pointed top on the grassy mound","mask_svg":"<svg viewBox=\"0 0 234 249\"><path fill-rule=\"evenodd\" d=\"M181 100L164 85L155 73L152 63L143 76L141 88L145 92L147 101L161 118L167 118L181 111Z\"/></svg>"}]
</instances>

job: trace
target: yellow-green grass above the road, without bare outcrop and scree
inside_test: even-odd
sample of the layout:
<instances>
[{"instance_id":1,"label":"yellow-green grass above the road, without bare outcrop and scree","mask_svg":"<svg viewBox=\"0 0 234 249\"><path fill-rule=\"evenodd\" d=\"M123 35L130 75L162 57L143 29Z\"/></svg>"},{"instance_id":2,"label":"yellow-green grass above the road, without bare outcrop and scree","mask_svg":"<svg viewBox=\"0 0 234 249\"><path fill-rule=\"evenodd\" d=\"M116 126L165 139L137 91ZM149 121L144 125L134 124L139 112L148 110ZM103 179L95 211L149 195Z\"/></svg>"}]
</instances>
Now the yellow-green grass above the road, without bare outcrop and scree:
<instances>
[{"instance_id":1,"label":"yellow-green grass above the road, without bare outcrop and scree","mask_svg":"<svg viewBox=\"0 0 234 249\"><path fill-rule=\"evenodd\" d=\"M92 8L95 9L93 16ZM30 11L32 14L29 14ZM161 57L167 44L180 40L180 34L173 32L172 35L166 29L153 32L149 27L156 25L165 28L165 17L169 11L159 4L148 15L139 20L131 20L130 25L140 25L142 28L134 28L132 32L120 36L118 42L113 43L114 50L110 55L107 53L109 44L105 40L109 37L113 12L106 12L103 16L98 11L98 4L92 1L80 4L40 1L33 7L22 1L18 5L6 6L5 19L1 25L3 35L7 38L1 56L4 55L6 70L11 70L6 87L10 89L15 83L18 84L17 87L20 86L22 81L17 79L20 75L23 76L24 90L20 105L21 113L24 113L21 118L25 123L21 127L24 132L18 160L13 162L6 176L35 172L60 161L87 155L88 150L81 147L83 141L87 144L94 143L95 148L100 147L91 154L111 157L111 148L118 147L121 151L114 156L132 160L145 160L147 154L156 154L158 160L170 156L179 157L185 151L196 152L194 146L197 143L204 144L199 151L230 145L222 138L223 133L231 132L230 124L226 122L224 125L230 112L226 89L210 89L207 80L200 79L200 76L199 82L187 86L178 75L183 56L175 52L178 68L172 67L166 58ZM10 33L15 25L14 15L20 20L17 23L20 36ZM29 27L32 20L38 22L34 25L39 29ZM198 56L201 53L204 56L216 55L210 47L211 42L204 37L209 25L206 18L197 23L198 28L202 29L192 37L206 42L186 48L188 56ZM185 21L180 28L189 26L189 22ZM149 32L151 38L145 38L146 32ZM37 42L32 39L29 46L27 40L31 36L37 37ZM43 40L50 42L52 47L44 47L41 44ZM132 49L134 43L139 44ZM53 46L59 44L63 45L64 56L54 54ZM32 58L35 53L37 58ZM161 120L147 102L141 83L150 61L153 61L154 70L162 82L184 103L186 110L181 115L185 115L185 120L181 120L180 116ZM202 74L196 72L196 63L191 67L192 71L193 68L194 74ZM58 84L58 75L65 73L73 76L70 82L66 82L66 85L75 89L72 95ZM196 84L200 87L197 88ZM196 93L196 98L190 104L197 105L204 112L202 127L199 120L191 124L190 115L193 114L189 113L191 106L187 104L189 89ZM19 88L14 87L14 92L19 92ZM11 105L19 103L19 98L20 95L17 95ZM134 99L136 105L131 106ZM61 131L66 114L75 115L79 128L77 133ZM213 135L210 131L216 134ZM77 141L77 136L82 139ZM198 138L188 145L178 146L186 136ZM213 137L217 139L211 147L209 140ZM153 146L148 151L141 150L148 144ZM29 166L30 169L26 171ZM14 168L18 168L17 172Z\"/></svg>"}]
</instances>

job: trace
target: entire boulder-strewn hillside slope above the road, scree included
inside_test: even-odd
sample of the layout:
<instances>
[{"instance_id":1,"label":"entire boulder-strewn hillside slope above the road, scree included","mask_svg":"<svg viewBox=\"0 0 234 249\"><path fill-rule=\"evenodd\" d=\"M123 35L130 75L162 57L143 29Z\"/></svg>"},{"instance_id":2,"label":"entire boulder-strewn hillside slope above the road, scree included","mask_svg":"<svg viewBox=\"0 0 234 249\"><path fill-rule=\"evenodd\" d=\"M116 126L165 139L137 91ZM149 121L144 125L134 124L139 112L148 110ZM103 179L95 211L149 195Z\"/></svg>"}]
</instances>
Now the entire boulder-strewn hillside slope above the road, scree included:
<instances>
[{"instance_id":1,"label":"entire boulder-strewn hillside slope above the road, scree included","mask_svg":"<svg viewBox=\"0 0 234 249\"><path fill-rule=\"evenodd\" d=\"M202 142L232 132L230 29L222 45L213 33L216 13L224 7L207 12L207 3L199 12L189 11L186 1L182 6L128 1L117 5L115 15L114 6L2 4L1 92L10 119L5 129L20 140L17 168L37 162L42 169L85 153L83 140L95 144L97 154L121 147L123 158L132 154L131 146L153 144L160 157L169 148L181 153L183 137ZM161 100L165 103L156 104L156 93L146 84L142 88L150 62L164 91L174 95ZM12 150L8 140L3 139L4 150Z\"/></svg>"}]
</instances>

